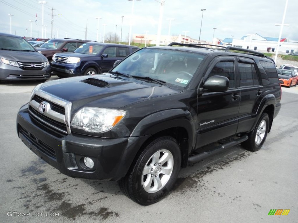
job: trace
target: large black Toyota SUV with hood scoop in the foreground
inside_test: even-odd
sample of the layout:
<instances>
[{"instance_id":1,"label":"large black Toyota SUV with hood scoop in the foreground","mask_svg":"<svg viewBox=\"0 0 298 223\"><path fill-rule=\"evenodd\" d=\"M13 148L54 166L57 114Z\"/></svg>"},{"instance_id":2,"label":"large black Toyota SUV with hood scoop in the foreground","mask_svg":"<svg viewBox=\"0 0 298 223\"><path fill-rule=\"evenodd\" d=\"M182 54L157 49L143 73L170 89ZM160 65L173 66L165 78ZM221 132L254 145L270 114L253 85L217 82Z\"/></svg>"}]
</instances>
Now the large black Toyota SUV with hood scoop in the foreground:
<instances>
[{"instance_id":1,"label":"large black Toyota SUV with hood scoop in the foreground","mask_svg":"<svg viewBox=\"0 0 298 223\"><path fill-rule=\"evenodd\" d=\"M63 174L118 180L135 202L157 202L181 167L240 143L259 150L280 111L271 59L214 47L142 48L108 73L40 84L18 136Z\"/></svg>"}]
</instances>

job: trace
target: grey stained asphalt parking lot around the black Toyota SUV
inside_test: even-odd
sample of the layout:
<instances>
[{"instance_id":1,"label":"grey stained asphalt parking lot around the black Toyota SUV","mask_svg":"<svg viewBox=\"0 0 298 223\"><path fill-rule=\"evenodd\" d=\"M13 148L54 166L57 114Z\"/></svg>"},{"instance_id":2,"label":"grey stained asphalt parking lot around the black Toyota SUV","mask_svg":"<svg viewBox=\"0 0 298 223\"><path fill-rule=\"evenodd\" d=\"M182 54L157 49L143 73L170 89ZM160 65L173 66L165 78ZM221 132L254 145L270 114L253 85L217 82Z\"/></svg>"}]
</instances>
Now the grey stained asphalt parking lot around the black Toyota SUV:
<instances>
[{"instance_id":1,"label":"grey stained asphalt parking lot around the black Toyota SUV","mask_svg":"<svg viewBox=\"0 0 298 223\"><path fill-rule=\"evenodd\" d=\"M18 139L16 114L37 84L0 84L0 222L297 222L298 87L282 87L260 151L235 146L181 169L172 192L144 207L117 182L60 174ZM268 216L271 209L290 212Z\"/></svg>"}]
</instances>

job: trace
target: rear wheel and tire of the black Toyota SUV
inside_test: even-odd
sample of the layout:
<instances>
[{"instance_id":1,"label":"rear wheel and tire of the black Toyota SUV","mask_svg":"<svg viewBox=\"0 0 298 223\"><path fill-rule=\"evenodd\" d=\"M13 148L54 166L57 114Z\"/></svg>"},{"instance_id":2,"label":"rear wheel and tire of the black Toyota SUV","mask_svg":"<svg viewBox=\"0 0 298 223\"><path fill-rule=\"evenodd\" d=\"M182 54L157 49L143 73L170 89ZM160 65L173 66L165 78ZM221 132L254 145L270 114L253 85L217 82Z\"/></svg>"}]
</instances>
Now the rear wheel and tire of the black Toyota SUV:
<instances>
[{"instance_id":1,"label":"rear wheel and tire of the black Toyota SUV","mask_svg":"<svg viewBox=\"0 0 298 223\"><path fill-rule=\"evenodd\" d=\"M254 127L254 130L248 134L248 139L241 145L249 151L256 152L260 150L265 142L269 129L269 117L267 113L263 113Z\"/></svg>"}]
</instances>

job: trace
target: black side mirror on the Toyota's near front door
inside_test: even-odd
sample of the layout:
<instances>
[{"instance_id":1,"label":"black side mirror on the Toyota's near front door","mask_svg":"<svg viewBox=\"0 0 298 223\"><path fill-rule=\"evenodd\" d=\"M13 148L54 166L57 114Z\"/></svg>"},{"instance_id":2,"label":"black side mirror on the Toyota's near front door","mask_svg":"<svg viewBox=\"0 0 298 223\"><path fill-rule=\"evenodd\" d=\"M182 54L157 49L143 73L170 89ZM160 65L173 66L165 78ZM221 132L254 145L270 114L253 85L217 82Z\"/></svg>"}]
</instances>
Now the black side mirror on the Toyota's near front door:
<instances>
[{"instance_id":1,"label":"black side mirror on the Toyota's near front door","mask_svg":"<svg viewBox=\"0 0 298 223\"><path fill-rule=\"evenodd\" d=\"M204 85L203 88L213 92L224 92L229 89L229 79L224 76L212 76L209 77Z\"/></svg>"}]
</instances>

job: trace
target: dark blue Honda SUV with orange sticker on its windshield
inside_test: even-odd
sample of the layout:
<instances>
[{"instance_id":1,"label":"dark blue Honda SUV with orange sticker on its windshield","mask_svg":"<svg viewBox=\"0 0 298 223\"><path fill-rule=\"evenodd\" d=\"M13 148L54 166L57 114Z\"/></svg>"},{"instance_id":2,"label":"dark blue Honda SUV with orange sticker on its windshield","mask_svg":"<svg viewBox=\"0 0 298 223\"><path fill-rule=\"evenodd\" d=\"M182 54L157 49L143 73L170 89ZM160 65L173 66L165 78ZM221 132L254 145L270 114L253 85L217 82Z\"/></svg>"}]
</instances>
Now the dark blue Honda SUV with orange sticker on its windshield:
<instances>
[{"instance_id":1,"label":"dark blue Honda SUV with orange sticker on its windshield","mask_svg":"<svg viewBox=\"0 0 298 223\"><path fill-rule=\"evenodd\" d=\"M84 43L73 53L54 54L52 71L58 77L94 75L109 71L139 47L112 43Z\"/></svg>"}]
</instances>

